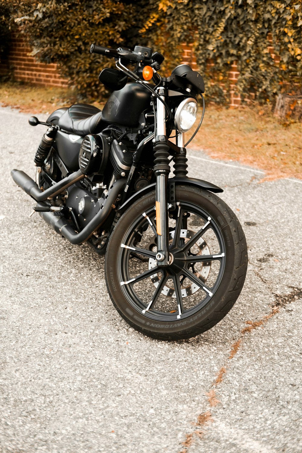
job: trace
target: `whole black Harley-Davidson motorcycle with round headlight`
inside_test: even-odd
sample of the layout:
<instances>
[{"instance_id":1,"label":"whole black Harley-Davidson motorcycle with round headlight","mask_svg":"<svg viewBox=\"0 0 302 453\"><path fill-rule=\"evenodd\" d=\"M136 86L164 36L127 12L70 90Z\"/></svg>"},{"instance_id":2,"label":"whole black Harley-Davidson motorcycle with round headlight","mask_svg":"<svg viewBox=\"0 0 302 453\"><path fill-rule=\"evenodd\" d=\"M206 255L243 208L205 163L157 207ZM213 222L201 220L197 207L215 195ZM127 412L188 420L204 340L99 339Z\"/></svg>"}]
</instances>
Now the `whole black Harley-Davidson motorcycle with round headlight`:
<instances>
[{"instance_id":1,"label":"whole black Harley-Davidson motorcycle with round headlight","mask_svg":"<svg viewBox=\"0 0 302 453\"><path fill-rule=\"evenodd\" d=\"M230 310L247 268L244 232L215 195L223 190L187 177L184 135L198 95L193 136L201 125L203 79L186 64L160 77L164 58L148 47L90 52L115 59L99 76L114 90L103 111L75 104L46 122L32 116L30 125L48 126L36 182L19 170L12 177L59 235L106 254L110 298L131 326L163 340L193 337Z\"/></svg>"}]
</instances>

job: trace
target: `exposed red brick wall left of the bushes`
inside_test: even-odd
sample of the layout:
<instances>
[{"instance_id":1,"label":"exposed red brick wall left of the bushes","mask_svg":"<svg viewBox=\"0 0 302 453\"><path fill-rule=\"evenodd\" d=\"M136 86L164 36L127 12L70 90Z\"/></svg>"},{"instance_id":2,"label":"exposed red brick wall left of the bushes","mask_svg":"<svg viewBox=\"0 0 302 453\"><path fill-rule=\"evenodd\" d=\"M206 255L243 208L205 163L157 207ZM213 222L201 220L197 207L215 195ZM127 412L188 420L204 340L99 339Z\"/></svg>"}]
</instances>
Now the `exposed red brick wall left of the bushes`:
<instances>
[{"instance_id":1,"label":"exposed red brick wall left of the bushes","mask_svg":"<svg viewBox=\"0 0 302 453\"><path fill-rule=\"evenodd\" d=\"M31 52L32 49L28 47L24 39L13 34L8 60L0 65L0 74L5 74L10 67L15 80L44 86L67 86L68 80L59 75L57 64L39 63L30 55Z\"/></svg>"}]
</instances>

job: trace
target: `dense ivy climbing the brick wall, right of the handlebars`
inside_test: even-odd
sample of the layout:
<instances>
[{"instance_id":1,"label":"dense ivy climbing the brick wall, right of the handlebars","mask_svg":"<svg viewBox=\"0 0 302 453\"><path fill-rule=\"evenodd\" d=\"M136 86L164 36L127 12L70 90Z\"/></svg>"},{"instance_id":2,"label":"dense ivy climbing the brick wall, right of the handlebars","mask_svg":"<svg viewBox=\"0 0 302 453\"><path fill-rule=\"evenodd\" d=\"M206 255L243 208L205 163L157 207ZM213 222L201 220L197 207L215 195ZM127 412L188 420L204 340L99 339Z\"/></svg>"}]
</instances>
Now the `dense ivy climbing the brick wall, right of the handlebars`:
<instances>
[{"instance_id":1,"label":"dense ivy climbing the brick wall, right of the handlebars","mask_svg":"<svg viewBox=\"0 0 302 453\"><path fill-rule=\"evenodd\" d=\"M149 30L153 42L165 45L175 58L179 43L192 43L206 94L212 99L230 101L228 74L234 61L239 72L236 91L242 99L252 92L258 101L273 100L282 90L301 87L302 0L151 0L148 4L142 32Z\"/></svg>"}]
</instances>

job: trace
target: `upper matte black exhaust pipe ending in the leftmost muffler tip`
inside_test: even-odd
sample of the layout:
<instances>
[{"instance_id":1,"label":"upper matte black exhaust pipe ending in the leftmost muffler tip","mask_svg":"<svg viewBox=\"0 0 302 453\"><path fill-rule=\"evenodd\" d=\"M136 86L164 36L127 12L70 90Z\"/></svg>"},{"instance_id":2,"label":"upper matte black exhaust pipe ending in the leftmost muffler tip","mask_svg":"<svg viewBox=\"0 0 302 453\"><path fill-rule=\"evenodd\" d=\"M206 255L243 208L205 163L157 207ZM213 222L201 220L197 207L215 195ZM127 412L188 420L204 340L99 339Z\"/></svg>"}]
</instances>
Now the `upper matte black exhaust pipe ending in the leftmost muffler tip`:
<instances>
[{"instance_id":1,"label":"upper matte black exhaust pipe ending in the leftmost muffler tip","mask_svg":"<svg viewBox=\"0 0 302 453\"><path fill-rule=\"evenodd\" d=\"M72 186L72 184L77 183L77 181L80 181L86 177L81 170L78 170L42 192L34 180L29 178L24 171L14 169L10 172L10 174L14 179L14 182L37 202L56 197L69 186Z\"/></svg>"}]
</instances>

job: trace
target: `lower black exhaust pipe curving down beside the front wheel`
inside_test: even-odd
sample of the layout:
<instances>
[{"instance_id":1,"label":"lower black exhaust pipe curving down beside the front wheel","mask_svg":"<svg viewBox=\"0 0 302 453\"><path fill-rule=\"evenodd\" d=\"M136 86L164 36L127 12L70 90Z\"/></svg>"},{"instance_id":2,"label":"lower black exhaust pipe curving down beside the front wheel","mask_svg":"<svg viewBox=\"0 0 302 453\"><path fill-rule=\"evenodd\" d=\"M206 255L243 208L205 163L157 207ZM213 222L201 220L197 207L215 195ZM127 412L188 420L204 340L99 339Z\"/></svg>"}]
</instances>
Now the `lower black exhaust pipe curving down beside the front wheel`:
<instances>
[{"instance_id":1,"label":"lower black exhaust pipe curving down beside the front wheel","mask_svg":"<svg viewBox=\"0 0 302 453\"><path fill-rule=\"evenodd\" d=\"M123 186L126 183L126 178L121 178L115 181L115 183L110 187L108 195L105 198L101 209L93 217L93 219L82 229L79 233L74 231L72 226L67 222L66 218L58 217L53 215L53 212L39 212L40 216L45 220L48 225L52 226L54 231L56 231L61 236L66 237L69 242L74 245L80 245L87 239L92 236L93 231L96 231L100 228L102 223L105 222L106 218L112 211L112 204L115 202ZM45 203L39 203L39 206L48 206Z\"/></svg>"}]
</instances>

